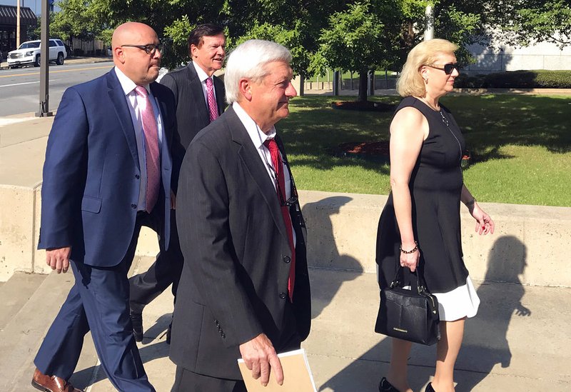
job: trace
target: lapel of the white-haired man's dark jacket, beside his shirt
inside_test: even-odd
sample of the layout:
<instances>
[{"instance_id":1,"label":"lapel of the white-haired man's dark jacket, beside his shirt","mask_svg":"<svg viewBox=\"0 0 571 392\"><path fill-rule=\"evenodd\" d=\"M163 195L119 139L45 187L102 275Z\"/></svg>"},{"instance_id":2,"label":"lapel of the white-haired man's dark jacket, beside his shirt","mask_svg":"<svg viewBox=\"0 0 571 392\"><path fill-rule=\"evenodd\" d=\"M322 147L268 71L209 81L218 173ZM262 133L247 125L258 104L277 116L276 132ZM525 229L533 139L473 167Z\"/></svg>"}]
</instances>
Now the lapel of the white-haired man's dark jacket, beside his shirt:
<instances>
[{"instance_id":1,"label":"lapel of the white-haired man's dark jacket, beside his shirt","mask_svg":"<svg viewBox=\"0 0 571 392\"><path fill-rule=\"evenodd\" d=\"M270 208L273 221L276 223L276 226L278 226L282 235L287 239L288 233L285 231L285 223L283 223L278 194L276 194L276 189L273 187L271 179L268 176L268 171L263 167L263 163L258 151L256 151L252 144L248 131L246 131L246 128L244 128L232 107L228 108L226 113L228 113L226 120L232 140L241 145L240 149L238 149L238 156L240 156L244 166L246 166L246 169L248 169L252 178L256 181L260 193Z\"/></svg>"}]
</instances>

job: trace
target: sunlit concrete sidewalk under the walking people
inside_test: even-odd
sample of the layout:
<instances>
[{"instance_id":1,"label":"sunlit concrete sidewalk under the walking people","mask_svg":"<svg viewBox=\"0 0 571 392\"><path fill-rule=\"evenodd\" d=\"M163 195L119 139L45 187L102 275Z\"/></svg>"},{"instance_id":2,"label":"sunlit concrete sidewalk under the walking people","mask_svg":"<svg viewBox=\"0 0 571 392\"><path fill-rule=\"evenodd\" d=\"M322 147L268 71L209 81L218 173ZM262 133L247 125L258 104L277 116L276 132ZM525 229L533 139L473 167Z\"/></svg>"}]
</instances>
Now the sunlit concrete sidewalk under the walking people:
<instances>
[{"instance_id":1,"label":"sunlit concrete sidewalk under the walking people","mask_svg":"<svg viewBox=\"0 0 571 392\"><path fill-rule=\"evenodd\" d=\"M152 262L137 258L131 273L146 270ZM313 325L303 348L318 391L377 391L388 371L390 340L373 332L378 309L375 273L310 268L310 278ZM69 274L47 276L14 320L1 326L2 391L34 390L29 386L33 358L72 280ZM10 284L0 287L0 293ZM570 391L571 308L562 306L561 299L569 298L571 289L482 282L475 286L482 304L466 323L456 391ZM165 342L171 311L167 289L145 309L145 337L138 344L148 378L159 392L170 391L176 368ZM413 346L409 379L414 391L424 391L434 361L435 346ZM91 392L114 391L98 366L89 335L71 382Z\"/></svg>"}]
</instances>

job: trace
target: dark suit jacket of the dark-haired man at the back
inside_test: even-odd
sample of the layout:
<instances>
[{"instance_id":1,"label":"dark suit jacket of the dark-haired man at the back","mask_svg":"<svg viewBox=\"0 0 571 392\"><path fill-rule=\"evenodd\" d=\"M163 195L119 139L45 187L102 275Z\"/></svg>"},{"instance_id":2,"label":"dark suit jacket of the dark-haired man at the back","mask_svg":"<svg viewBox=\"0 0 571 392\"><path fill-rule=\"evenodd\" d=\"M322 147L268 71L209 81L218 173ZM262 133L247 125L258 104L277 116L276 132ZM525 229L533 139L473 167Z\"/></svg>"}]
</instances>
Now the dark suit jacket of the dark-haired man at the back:
<instances>
[{"instance_id":1,"label":"dark suit jacket of the dark-haired man at the back","mask_svg":"<svg viewBox=\"0 0 571 392\"><path fill-rule=\"evenodd\" d=\"M226 107L226 90L224 83L216 76L214 80L214 91L216 92L216 104L218 114L222 114ZM210 124L208 105L204 100L201 81L198 79L196 69L192 61L184 68L169 72L161 84L173 91L176 104L176 120L178 123L178 134L185 149L191 144L192 139L198 131Z\"/></svg>"}]
</instances>

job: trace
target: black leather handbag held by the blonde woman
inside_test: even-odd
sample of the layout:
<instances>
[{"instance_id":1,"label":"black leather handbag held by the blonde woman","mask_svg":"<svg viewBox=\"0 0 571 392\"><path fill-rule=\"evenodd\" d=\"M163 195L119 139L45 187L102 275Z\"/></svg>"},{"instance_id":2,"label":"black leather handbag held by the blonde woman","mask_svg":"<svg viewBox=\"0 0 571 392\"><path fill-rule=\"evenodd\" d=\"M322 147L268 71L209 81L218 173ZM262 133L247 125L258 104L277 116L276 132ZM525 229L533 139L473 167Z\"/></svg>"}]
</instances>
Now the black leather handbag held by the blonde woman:
<instances>
[{"instance_id":1,"label":"black leather handbag held by the blonde woman","mask_svg":"<svg viewBox=\"0 0 571 392\"><path fill-rule=\"evenodd\" d=\"M416 290L403 288L401 266L390 286L380 291L380 307L375 332L393 338L432 346L440 340L438 300L426 288L417 269Z\"/></svg>"}]
</instances>

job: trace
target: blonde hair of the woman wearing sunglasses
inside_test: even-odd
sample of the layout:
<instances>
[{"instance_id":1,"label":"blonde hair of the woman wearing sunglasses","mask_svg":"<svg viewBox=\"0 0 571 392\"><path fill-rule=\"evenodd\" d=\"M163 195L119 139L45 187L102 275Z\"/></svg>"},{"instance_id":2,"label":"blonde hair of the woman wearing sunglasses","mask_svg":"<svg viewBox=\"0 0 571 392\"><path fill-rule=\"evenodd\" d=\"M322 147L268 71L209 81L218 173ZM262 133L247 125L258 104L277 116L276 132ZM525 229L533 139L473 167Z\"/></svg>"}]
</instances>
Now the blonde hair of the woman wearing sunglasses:
<instances>
[{"instance_id":1,"label":"blonde hair of the woman wearing sunglasses","mask_svg":"<svg viewBox=\"0 0 571 392\"><path fill-rule=\"evenodd\" d=\"M458 45L445 39L430 39L420 42L408 53L403 71L397 80L397 91L400 96L424 96L426 94L420 67L434 64L440 54L454 53Z\"/></svg>"}]
</instances>

